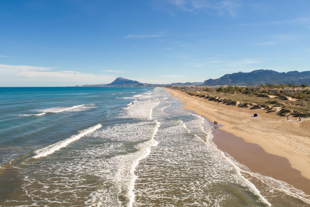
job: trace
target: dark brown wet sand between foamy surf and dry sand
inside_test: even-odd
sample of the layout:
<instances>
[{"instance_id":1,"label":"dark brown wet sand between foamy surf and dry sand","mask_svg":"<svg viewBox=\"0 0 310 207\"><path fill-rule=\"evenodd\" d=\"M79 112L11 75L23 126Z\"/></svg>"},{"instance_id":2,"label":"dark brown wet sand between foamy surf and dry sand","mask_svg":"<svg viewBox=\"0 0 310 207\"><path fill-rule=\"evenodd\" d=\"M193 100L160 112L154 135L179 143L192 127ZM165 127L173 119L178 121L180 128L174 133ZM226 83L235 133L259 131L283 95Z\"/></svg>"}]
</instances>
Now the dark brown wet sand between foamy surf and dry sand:
<instances>
[{"instance_id":1,"label":"dark brown wet sand between foamy surf and dry sand","mask_svg":"<svg viewBox=\"0 0 310 207\"><path fill-rule=\"evenodd\" d=\"M212 124L212 123L210 123ZM285 157L269 154L258 144L245 142L241 137L212 128L213 142L252 172L284 181L310 195L310 180L291 167Z\"/></svg>"}]
</instances>

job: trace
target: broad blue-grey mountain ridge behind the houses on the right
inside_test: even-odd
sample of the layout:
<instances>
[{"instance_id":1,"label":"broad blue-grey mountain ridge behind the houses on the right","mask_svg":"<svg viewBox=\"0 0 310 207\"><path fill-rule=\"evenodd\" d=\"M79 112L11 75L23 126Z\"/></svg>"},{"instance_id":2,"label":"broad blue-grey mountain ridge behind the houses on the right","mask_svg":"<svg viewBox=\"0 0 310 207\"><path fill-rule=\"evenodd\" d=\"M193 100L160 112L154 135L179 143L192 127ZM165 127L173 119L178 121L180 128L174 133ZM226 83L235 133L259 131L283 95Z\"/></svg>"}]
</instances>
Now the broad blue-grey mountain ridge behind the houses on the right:
<instances>
[{"instance_id":1,"label":"broad blue-grey mountain ridge behind the houses on the right","mask_svg":"<svg viewBox=\"0 0 310 207\"><path fill-rule=\"evenodd\" d=\"M208 79L204 85L239 85L239 86L258 86L261 84L307 84L310 85L310 71L298 72L290 71L279 73L273 70L254 70L250 73L226 74L217 79Z\"/></svg>"}]
</instances>

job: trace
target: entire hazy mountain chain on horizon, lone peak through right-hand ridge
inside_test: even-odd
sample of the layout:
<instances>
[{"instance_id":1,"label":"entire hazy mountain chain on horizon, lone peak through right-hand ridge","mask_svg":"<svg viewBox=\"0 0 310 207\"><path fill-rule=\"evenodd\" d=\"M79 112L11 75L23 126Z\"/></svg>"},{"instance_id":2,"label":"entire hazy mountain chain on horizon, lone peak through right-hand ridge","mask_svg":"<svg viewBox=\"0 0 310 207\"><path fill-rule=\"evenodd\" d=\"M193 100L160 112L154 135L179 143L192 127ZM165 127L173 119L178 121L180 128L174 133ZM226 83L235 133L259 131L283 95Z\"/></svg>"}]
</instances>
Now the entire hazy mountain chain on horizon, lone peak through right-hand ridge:
<instances>
[{"instance_id":1,"label":"entire hazy mountain chain on horizon, lone peak through right-hand ridge","mask_svg":"<svg viewBox=\"0 0 310 207\"><path fill-rule=\"evenodd\" d=\"M102 86L197 86L197 85L232 85L232 86L259 86L261 84L294 84L310 85L310 71L290 71L279 73L273 70L254 70L249 73L232 73L226 74L217 79L208 79L204 82L186 82L186 83L170 83L170 84L151 84L141 83L130 79L118 77L109 84L83 85L83 87L102 87Z\"/></svg>"}]
</instances>

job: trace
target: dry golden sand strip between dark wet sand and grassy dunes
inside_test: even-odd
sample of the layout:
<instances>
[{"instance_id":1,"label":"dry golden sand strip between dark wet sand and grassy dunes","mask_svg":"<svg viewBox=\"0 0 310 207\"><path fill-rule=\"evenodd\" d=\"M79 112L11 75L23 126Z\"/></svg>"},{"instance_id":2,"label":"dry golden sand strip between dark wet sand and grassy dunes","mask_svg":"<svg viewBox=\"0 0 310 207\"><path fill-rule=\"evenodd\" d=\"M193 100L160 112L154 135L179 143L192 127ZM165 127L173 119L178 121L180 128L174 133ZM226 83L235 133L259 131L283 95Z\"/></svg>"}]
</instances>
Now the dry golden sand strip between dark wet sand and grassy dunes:
<instances>
[{"instance_id":1,"label":"dry golden sand strip between dark wet sand and grassy dunes","mask_svg":"<svg viewBox=\"0 0 310 207\"><path fill-rule=\"evenodd\" d=\"M301 174L310 179L310 130L300 128L299 121L281 121L201 101L179 90L168 89L184 103L184 109L222 124L220 129L256 143L266 152L283 156ZM186 104L185 104L186 101ZM281 173L281 172L279 172Z\"/></svg>"}]
</instances>

